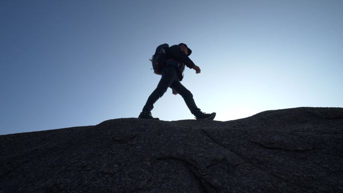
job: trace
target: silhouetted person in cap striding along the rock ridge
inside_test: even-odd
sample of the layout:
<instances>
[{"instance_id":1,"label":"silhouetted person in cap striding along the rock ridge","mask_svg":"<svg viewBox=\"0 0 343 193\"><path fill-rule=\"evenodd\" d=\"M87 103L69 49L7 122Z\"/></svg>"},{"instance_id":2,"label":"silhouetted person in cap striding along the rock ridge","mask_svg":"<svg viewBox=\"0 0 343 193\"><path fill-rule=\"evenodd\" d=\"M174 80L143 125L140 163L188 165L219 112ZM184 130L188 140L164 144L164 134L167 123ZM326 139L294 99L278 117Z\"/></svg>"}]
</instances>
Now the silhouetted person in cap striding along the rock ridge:
<instances>
[{"instance_id":1,"label":"silhouetted person in cap striding along the rock ridge","mask_svg":"<svg viewBox=\"0 0 343 193\"><path fill-rule=\"evenodd\" d=\"M138 118L143 119L158 119L151 116L151 110L153 109L153 104L166 92L168 87L173 89L173 94L178 93L184 98L188 108L191 113L195 115L196 119L214 119L216 113L204 113L196 105L192 93L185 88L180 81L183 79L183 72L185 70L185 65L191 69L194 69L197 74L200 73L200 68L193 63L193 61L188 57L191 55L192 50L187 47L186 44L181 43L179 45L174 45L163 50L166 56L165 67L161 70L161 79L156 87L156 89L148 97L142 112L139 114ZM162 45L161 45L162 46ZM158 47L157 47L158 48ZM156 49L157 52L157 49ZM160 51L162 52L162 50ZM155 53L156 55L156 53ZM154 56L155 56L154 55ZM153 57L154 57L153 56ZM153 62L153 60L152 60ZM155 70L155 69L154 69ZM157 74L157 73L156 73Z\"/></svg>"}]
</instances>

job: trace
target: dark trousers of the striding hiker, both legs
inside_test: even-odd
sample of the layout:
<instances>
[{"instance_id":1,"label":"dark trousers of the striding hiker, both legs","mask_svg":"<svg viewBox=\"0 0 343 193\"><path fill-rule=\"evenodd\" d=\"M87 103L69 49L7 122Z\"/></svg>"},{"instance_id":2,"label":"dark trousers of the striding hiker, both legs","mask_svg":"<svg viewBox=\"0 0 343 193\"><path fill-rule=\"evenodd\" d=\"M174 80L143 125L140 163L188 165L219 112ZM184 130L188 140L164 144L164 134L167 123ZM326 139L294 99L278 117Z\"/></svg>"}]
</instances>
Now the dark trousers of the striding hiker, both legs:
<instances>
[{"instance_id":1,"label":"dark trousers of the striding hiker, both legs","mask_svg":"<svg viewBox=\"0 0 343 193\"><path fill-rule=\"evenodd\" d=\"M143 111L151 111L153 109L153 104L160 97L162 97L168 87L170 87L184 98L186 105L188 106L192 114L198 114L200 112L200 109L195 104L192 93L180 83L176 68L165 67L161 75L162 77L159 80L156 89L150 94L149 98L147 99L143 107Z\"/></svg>"}]
</instances>

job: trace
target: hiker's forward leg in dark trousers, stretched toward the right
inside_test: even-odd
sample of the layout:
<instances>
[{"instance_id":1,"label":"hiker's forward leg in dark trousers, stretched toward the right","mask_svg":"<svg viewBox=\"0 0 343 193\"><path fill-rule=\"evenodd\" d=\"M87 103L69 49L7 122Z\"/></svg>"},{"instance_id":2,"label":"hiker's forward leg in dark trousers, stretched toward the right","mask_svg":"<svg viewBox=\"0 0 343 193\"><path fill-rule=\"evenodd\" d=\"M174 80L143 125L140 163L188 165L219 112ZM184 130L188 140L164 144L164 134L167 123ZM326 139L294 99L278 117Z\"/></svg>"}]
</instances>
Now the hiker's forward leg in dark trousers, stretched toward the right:
<instances>
[{"instance_id":1,"label":"hiker's forward leg in dark trousers, stretched toward the right","mask_svg":"<svg viewBox=\"0 0 343 193\"><path fill-rule=\"evenodd\" d=\"M179 93L182 96L182 98L184 98L186 105L190 109L192 114L196 115L199 112L201 112L193 99L193 94L186 87L184 87L184 85L182 85L181 82L174 81L169 87L171 89L174 89L177 93Z\"/></svg>"}]
</instances>

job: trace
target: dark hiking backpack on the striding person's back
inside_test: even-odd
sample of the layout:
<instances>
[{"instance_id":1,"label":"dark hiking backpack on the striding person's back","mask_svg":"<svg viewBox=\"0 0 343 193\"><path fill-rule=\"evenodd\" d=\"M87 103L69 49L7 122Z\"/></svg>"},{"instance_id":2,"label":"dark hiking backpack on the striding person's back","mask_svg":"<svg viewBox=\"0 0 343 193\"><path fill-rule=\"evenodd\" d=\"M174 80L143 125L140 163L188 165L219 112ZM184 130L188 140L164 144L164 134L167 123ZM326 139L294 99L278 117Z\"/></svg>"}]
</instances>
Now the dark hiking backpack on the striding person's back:
<instances>
[{"instance_id":1,"label":"dark hiking backpack on the striding person's back","mask_svg":"<svg viewBox=\"0 0 343 193\"><path fill-rule=\"evenodd\" d=\"M157 46L155 54L152 55L152 58L150 59L153 73L157 75L161 74L162 70L166 65L166 55L168 52L168 48L168 44L161 44Z\"/></svg>"}]
</instances>

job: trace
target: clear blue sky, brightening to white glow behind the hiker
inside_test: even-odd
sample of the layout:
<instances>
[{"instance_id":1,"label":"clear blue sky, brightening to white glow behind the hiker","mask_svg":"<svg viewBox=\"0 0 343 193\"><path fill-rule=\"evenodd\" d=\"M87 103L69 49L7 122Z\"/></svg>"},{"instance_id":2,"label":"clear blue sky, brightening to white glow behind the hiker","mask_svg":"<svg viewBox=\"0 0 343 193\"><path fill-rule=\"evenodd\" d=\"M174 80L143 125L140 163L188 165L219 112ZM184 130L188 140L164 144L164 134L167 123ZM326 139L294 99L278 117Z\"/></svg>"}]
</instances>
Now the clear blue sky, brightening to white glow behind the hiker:
<instances>
[{"instance_id":1,"label":"clear blue sky, brightening to white glow behind the hiker","mask_svg":"<svg viewBox=\"0 0 343 193\"><path fill-rule=\"evenodd\" d=\"M156 46L186 43L199 108L343 107L343 1L0 1L0 134L137 117ZM154 117L194 119L168 89Z\"/></svg>"}]
</instances>

